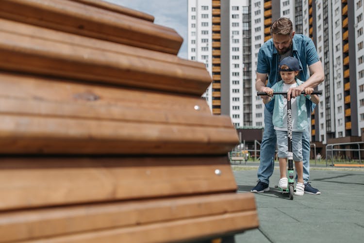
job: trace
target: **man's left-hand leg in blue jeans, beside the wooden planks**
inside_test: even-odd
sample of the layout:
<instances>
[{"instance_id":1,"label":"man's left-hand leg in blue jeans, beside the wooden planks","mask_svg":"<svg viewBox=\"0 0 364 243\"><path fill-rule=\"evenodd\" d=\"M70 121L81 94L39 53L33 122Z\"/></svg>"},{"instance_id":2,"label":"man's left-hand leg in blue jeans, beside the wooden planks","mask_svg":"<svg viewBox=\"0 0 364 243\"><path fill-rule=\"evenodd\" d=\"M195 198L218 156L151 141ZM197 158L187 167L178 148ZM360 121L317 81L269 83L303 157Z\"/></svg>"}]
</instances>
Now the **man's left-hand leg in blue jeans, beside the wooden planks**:
<instances>
[{"instance_id":1,"label":"man's left-hand leg in blue jeans, beside the wooden planks","mask_svg":"<svg viewBox=\"0 0 364 243\"><path fill-rule=\"evenodd\" d=\"M264 133L260 147L260 164L258 179L269 184L269 178L274 169L274 153L276 151L277 137L272 122L272 113L264 108Z\"/></svg>"}]
</instances>

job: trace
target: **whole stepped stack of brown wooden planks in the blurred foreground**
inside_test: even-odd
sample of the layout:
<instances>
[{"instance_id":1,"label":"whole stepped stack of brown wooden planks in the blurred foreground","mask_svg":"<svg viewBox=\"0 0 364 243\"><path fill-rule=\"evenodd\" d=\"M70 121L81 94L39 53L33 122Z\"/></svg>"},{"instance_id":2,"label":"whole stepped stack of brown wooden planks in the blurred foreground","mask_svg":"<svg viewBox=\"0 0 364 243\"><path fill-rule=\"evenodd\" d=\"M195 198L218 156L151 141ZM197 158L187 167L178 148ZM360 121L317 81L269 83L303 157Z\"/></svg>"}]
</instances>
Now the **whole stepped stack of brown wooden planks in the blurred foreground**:
<instances>
[{"instance_id":1,"label":"whole stepped stack of brown wooden planks in the blurred foreground","mask_svg":"<svg viewBox=\"0 0 364 243\"><path fill-rule=\"evenodd\" d=\"M258 227L230 117L153 16L1 0L0 242L175 242Z\"/></svg>"}]
</instances>

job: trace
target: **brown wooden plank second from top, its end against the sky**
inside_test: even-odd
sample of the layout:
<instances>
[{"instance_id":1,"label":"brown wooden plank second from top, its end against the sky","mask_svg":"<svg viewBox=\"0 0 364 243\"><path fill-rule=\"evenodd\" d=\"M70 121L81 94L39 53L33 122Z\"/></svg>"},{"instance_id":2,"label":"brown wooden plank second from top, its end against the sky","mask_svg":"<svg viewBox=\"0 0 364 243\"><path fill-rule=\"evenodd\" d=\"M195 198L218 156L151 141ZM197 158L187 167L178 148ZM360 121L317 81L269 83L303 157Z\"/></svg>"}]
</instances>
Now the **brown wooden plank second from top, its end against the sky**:
<instances>
[{"instance_id":1,"label":"brown wooden plank second from top, its end against the sky","mask_svg":"<svg viewBox=\"0 0 364 243\"><path fill-rule=\"evenodd\" d=\"M0 17L174 55L183 42L173 29L70 0L1 0Z\"/></svg>"}]
</instances>

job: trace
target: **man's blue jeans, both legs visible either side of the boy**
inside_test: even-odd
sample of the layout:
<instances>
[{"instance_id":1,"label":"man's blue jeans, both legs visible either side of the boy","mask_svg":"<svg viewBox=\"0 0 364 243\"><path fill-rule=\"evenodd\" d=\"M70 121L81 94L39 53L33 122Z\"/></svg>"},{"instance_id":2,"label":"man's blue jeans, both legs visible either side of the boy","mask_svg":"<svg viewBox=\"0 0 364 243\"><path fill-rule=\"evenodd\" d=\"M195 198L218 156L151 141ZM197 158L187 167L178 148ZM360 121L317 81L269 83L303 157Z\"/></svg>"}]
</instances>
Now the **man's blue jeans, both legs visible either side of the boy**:
<instances>
[{"instance_id":1,"label":"man's blue jeans, both legs visible either side of the boy","mask_svg":"<svg viewBox=\"0 0 364 243\"><path fill-rule=\"evenodd\" d=\"M260 165L258 168L258 179L267 184L269 184L269 178L273 174L274 155L277 144L277 136L272 122L272 115L273 113L270 113L266 108L264 108L265 128L263 133L262 145L260 146ZM311 124L311 122L309 122L309 124ZM310 150L310 132L307 127L307 130L302 132L303 180L305 184L310 178Z\"/></svg>"}]
</instances>

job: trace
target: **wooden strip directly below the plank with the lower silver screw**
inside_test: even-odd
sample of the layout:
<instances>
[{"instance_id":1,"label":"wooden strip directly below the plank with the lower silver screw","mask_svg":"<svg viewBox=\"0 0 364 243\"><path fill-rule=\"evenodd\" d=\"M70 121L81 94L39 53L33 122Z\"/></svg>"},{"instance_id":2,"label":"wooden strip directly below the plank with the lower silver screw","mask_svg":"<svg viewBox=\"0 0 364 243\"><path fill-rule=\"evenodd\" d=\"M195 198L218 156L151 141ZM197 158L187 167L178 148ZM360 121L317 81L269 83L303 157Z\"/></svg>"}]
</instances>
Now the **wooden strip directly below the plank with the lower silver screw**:
<instances>
[{"instance_id":1,"label":"wooden strip directly below the plank with the lower silver screw","mask_svg":"<svg viewBox=\"0 0 364 243\"><path fill-rule=\"evenodd\" d=\"M0 242L255 210L254 195L229 193L9 211L0 213Z\"/></svg>"}]
</instances>

